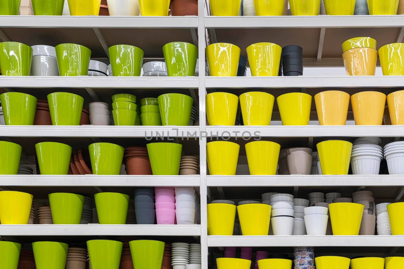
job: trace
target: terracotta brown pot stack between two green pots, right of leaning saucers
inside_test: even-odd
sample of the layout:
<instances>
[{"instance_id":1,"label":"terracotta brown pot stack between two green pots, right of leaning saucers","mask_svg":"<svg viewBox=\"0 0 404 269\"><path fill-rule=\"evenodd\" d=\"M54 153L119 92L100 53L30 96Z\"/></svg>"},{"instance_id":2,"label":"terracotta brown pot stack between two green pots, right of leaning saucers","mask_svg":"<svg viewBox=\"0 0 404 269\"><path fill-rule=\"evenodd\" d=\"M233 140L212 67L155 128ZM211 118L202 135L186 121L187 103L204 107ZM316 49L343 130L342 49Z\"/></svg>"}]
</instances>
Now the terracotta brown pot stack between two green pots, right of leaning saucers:
<instances>
[{"instance_id":1,"label":"terracotta brown pot stack between two green pots, right of leaning saucers","mask_svg":"<svg viewBox=\"0 0 404 269\"><path fill-rule=\"evenodd\" d=\"M127 175L152 175L149 154L145 147L127 147L124 152Z\"/></svg>"}]
</instances>

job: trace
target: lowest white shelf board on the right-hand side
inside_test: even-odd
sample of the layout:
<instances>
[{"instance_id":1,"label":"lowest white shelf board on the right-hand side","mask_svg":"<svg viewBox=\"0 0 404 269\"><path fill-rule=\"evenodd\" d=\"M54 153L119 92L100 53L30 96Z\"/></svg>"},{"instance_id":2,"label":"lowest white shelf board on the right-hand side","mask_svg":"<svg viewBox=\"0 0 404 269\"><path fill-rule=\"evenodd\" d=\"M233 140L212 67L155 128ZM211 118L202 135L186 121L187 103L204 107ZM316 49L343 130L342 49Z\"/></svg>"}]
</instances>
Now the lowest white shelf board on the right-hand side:
<instances>
[{"instance_id":1,"label":"lowest white shelf board on the right-hand side","mask_svg":"<svg viewBox=\"0 0 404 269\"><path fill-rule=\"evenodd\" d=\"M208 236L209 247L224 246L404 246L404 236Z\"/></svg>"}]
</instances>

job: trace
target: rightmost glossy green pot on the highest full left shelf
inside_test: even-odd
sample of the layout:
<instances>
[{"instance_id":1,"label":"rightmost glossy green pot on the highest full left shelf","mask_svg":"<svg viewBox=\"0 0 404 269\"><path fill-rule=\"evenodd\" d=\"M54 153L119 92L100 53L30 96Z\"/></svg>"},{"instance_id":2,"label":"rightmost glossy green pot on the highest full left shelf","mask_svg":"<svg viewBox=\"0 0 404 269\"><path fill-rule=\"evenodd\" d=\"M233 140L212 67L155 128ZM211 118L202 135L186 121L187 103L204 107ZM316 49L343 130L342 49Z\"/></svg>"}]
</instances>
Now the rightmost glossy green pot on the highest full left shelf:
<instances>
[{"instance_id":1,"label":"rightmost glossy green pot on the highest full left shelf","mask_svg":"<svg viewBox=\"0 0 404 269\"><path fill-rule=\"evenodd\" d=\"M163 53L169 77L195 75L197 46L186 42L171 42L163 46Z\"/></svg>"}]
</instances>

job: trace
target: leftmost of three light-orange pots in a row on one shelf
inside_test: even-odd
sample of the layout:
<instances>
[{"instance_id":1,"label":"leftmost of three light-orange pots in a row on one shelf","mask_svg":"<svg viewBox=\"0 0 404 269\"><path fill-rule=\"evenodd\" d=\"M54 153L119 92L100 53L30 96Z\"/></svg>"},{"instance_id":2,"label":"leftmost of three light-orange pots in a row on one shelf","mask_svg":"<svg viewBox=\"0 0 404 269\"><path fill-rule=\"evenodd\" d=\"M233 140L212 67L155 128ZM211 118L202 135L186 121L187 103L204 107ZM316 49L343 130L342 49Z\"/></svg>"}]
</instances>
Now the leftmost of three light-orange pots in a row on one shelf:
<instances>
[{"instance_id":1,"label":"leftmost of three light-orange pots in a row on one shelf","mask_svg":"<svg viewBox=\"0 0 404 269\"><path fill-rule=\"evenodd\" d=\"M345 125L348 115L349 94L325 91L314 96L320 125Z\"/></svg>"}]
</instances>

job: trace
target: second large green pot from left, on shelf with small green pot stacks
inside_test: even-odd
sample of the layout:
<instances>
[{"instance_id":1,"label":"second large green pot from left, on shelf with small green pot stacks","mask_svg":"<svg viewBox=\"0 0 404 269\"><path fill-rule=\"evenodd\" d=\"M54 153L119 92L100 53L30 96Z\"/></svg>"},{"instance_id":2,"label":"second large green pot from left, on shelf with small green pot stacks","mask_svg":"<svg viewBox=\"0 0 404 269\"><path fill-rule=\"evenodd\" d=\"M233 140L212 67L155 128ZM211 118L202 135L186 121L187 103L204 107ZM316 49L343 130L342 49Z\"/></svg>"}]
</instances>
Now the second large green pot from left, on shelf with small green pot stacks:
<instances>
[{"instance_id":1,"label":"second large green pot from left, on shelf with small green pot stacks","mask_svg":"<svg viewBox=\"0 0 404 269\"><path fill-rule=\"evenodd\" d=\"M52 125L80 125L84 98L68 92L48 94Z\"/></svg>"}]
</instances>

